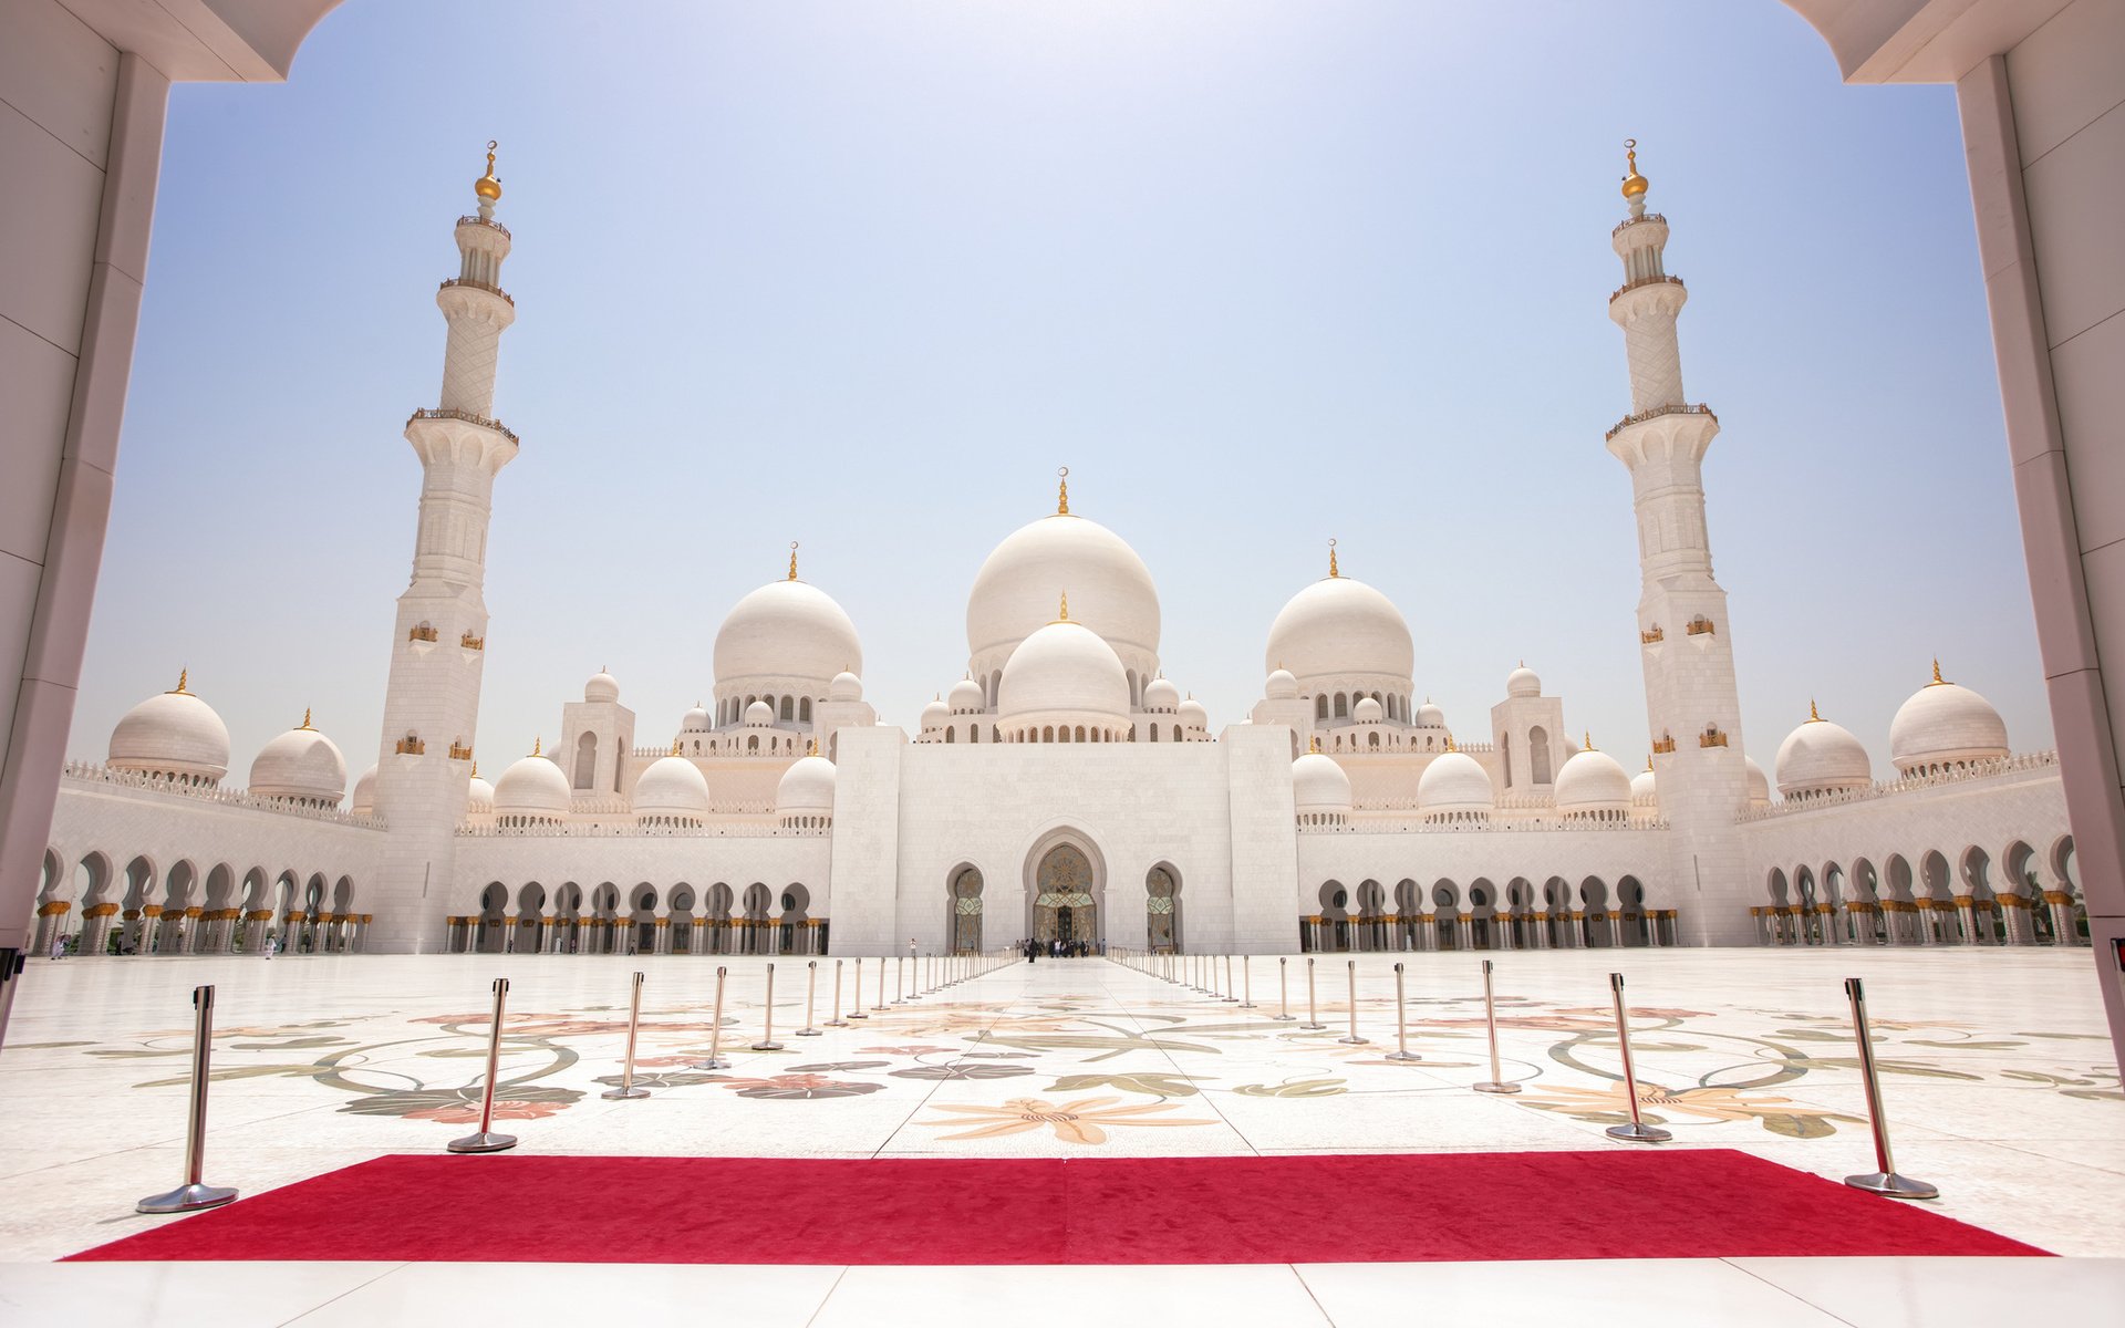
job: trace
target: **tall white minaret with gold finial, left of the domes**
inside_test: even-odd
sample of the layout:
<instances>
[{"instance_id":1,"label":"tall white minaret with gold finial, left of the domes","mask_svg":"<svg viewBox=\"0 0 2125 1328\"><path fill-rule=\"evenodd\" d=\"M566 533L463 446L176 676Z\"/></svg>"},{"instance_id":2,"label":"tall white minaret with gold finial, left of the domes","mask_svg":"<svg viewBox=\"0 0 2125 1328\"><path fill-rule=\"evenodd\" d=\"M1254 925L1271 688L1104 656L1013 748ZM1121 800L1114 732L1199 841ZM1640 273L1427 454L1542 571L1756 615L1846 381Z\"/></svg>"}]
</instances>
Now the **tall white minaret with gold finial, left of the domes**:
<instances>
[{"instance_id":1,"label":"tall white minaret with gold finial, left of the domes","mask_svg":"<svg viewBox=\"0 0 2125 1328\"><path fill-rule=\"evenodd\" d=\"M516 436L493 419L495 353L516 321L502 293L510 232L495 221L502 181L495 144L472 183L476 217L457 219L457 276L436 291L450 325L442 399L406 421L421 457L421 527L412 584L400 595L391 637L385 733L376 756L376 816L389 827L374 884L370 950L440 948L455 865L457 822L472 780L472 733L487 661L487 516L495 474L516 457Z\"/></svg>"}]
</instances>

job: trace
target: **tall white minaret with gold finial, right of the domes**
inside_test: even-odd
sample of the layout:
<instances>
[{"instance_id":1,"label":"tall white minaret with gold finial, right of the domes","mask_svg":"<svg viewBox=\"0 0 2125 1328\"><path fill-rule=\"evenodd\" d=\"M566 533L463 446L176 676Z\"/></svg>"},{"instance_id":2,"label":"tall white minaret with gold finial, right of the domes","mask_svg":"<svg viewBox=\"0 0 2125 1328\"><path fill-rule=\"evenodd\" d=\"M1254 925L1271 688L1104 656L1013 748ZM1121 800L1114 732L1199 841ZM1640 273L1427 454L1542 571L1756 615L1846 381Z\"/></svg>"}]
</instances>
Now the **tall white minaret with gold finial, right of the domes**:
<instances>
[{"instance_id":1,"label":"tall white minaret with gold finial, right of the domes","mask_svg":"<svg viewBox=\"0 0 2125 1328\"><path fill-rule=\"evenodd\" d=\"M1704 531L1704 450L1719 433L1708 406L1683 399L1683 359L1674 317L1689 293L1668 276L1662 251L1668 221L1645 210L1636 140L1624 200L1630 217L1615 227L1624 285L1609 295L1609 317L1630 355L1630 414L1609 429L1609 450L1630 467L1638 516L1638 642L1645 661L1645 710L1651 720L1660 814L1670 827L1670 890L1651 907L1679 909L1685 943L1747 946L1749 882L1742 880L1734 818L1749 805L1742 767L1740 697L1734 688L1734 637L1726 591L1713 580Z\"/></svg>"}]
</instances>

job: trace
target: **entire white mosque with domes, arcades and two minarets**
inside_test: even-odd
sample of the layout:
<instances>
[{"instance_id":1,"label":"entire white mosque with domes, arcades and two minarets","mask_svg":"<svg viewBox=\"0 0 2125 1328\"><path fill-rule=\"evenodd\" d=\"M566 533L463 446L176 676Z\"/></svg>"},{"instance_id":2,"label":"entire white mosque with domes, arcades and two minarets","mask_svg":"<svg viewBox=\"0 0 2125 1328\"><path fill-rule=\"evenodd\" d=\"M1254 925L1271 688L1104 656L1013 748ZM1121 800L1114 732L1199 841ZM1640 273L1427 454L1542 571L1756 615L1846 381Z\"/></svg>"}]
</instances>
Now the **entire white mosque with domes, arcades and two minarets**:
<instances>
[{"instance_id":1,"label":"entire white mosque with domes, arcades and two minarets","mask_svg":"<svg viewBox=\"0 0 2125 1328\"><path fill-rule=\"evenodd\" d=\"M493 480L516 457L493 419L514 319L493 151L474 189L436 297L442 397L406 423L425 480L376 765L348 797L340 748L306 714L225 788L227 729L181 676L125 714L102 763L68 767L38 948L2087 943L2053 754L2012 752L1998 712L1938 665L1891 718L1881 778L1813 712L1772 776L1745 756L1700 478L1719 419L1683 395L1687 291L1636 153L1609 297L1632 408L1606 446L1638 525L1643 771L1575 744L1528 667L1488 722L1449 725L1420 699L1400 610L1332 548L1269 625L1262 699L1213 727L1160 674L1150 569L1071 512L1065 472L1056 510L975 576L965 678L916 733L878 722L856 627L793 546L786 576L725 618L712 701L644 731L599 671L561 705L550 750L489 784L480 589Z\"/></svg>"}]
</instances>

